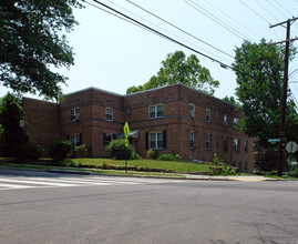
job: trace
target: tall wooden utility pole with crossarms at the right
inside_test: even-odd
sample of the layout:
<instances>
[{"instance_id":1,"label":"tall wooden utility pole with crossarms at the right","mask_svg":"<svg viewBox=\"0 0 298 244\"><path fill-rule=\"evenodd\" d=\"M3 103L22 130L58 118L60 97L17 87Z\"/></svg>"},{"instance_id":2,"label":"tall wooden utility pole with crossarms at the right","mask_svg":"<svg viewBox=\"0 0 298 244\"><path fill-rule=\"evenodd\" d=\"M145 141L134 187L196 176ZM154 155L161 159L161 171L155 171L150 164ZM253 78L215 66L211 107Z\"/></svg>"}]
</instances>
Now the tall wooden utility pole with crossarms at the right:
<instances>
[{"instance_id":1,"label":"tall wooden utility pole with crossarms at the right","mask_svg":"<svg viewBox=\"0 0 298 244\"><path fill-rule=\"evenodd\" d=\"M281 96L281 108L280 108L280 124L279 124L279 145L278 145L278 164L277 164L277 175L282 175L284 170L284 148L285 148L285 124L286 124L286 109L287 109L287 95L288 95L288 67L289 67L289 43L296 39L290 40L290 23L298 18L288 19L287 21L270 26L270 28L282 26L287 23L287 34L286 40L278 43L286 42L285 52L285 68L284 68L284 84L282 84L282 96Z\"/></svg>"}]
</instances>

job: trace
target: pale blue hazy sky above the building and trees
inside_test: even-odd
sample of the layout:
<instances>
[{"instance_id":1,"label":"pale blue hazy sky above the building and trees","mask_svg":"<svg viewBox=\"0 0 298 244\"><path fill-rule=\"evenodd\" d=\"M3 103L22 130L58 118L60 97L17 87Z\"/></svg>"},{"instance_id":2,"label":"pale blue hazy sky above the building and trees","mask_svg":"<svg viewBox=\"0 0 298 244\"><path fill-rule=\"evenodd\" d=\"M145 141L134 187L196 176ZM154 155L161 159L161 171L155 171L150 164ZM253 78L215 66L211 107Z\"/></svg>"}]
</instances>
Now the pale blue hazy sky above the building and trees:
<instances>
[{"instance_id":1,"label":"pale blue hazy sky above the building and trees","mask_svg":"<svg viewBox=\"0 0 298 244\"><path fill-rule=\"evenodd\" d=\"M93 0L86 2L107 10ZM298 0L102 0L100 2L227 65L233 63L234 50L240 47L244 40L256 43L261 38L274 42L284 41L286 28L282 26L269 28L270 24L298 17ZM219 81L215 96L223 99L226 95L235 95L234 71L224 69L204 55L101 9L83 4L84 9L74 9L73 12L80 24L68 33L69 44L75 53L75 64L69 70L59 70L69 78L68 85L61 85L63 93L94 87L125 94L127 88L144 84L156 74L161 62L168 53L181 50L187 57L196 54L201 64ZM290 28L290 37L297 38L298 20ZM298 47L298 40L294 45ZM289 87L298 100L297 69L298 57L289 65ZM8 89L0 88L0 96L7 92ZM30 94L25 96L32 98Z\"/></svg>"}]
</instances>

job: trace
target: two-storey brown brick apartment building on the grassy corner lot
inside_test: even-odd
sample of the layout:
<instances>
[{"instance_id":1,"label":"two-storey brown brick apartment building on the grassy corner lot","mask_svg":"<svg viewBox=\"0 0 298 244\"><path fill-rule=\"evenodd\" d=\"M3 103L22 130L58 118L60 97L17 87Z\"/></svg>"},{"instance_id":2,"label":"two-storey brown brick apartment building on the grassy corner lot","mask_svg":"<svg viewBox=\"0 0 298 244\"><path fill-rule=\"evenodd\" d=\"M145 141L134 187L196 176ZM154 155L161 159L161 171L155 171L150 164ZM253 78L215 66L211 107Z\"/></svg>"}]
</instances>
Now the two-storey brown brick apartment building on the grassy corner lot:
<instances>
[{"instance_id":1,"label":"two-storey brown brick apartment building on the grassy corner lot","mask_svg":"<svg viewBox=\"0 0 298 244\"><path fill-rule=\"evenodd\" d=\"M64 139L88 145L92 157L107 156L104 146L121 136L127 121L130 142L143 157L154 149L210 162L217 153L243 172L254 169L254 141L236 129L237 108L183 84L126 95L90 88L60 104L24 98L23 109L32 141L45 154Z\"/></svg>"}]
</instances>

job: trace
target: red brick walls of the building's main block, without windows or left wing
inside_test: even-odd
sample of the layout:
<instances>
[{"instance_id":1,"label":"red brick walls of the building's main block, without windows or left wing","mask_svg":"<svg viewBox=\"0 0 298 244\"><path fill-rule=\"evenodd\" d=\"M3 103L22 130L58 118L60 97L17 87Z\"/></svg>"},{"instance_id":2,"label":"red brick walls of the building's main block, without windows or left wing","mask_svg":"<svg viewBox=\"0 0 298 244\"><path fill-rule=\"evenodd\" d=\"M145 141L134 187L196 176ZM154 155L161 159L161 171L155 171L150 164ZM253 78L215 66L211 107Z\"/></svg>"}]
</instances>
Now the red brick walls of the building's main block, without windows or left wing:
<instances>
[{"instance_id":1,"label":"red brick walls of the building's main block, without windows or left wing","mask_svg":"<svg viewBox=\"0 0 298 244\"><path fill-rule=\"evenodd\" d=\"M195 116L189 115L189 103L195 105ZM148 106L163 104L164 116L148 119ZM80 108L81 119L78 122L69 121L69 111ZM105 109L113 109L113 121L105 120ZM206 121L206 109L210 110L210 122ZM218 122L216 122L218 113ZM224 114L228 125L224 125ZM225 163L247 162L247 170L253 171L254 153L253 140L239 134L234 128L234 118L242 118L236 108L219 99L206 95L185 85L177 84L154 89L130 95L119 95L99 89L86 89L69 94L60 105L61 138L70 134L82 134L82 143L91 148L92 157L109 156L104 152L103 135L120 134L125 121L130 129L138 130L140 138L134 140L135 151L146 155L146 132L163 132L166 130L167 148L158 154L175 153L183 160L210 162L214 153ZM195 149L189 149L189 131L195 133ZM205 138L210 136L210 150L206 150ZM224 150L224 138L228 138L228 151ZM240 140L240 151L234 152L233 139ZM248 140L248 153L244 152L244 140ZM133 141L133 140L131 140Z\"/></svg>"}]
</instances>

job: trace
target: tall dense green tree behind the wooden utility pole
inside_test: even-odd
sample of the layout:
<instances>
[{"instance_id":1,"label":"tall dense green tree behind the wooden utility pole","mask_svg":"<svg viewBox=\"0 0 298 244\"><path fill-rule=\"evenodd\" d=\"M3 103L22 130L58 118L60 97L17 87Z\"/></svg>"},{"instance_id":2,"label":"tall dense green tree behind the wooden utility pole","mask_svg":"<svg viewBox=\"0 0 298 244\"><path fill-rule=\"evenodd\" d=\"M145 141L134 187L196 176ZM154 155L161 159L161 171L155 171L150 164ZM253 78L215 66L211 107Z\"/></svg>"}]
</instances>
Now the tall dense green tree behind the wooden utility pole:
<instances>
[{"instance_id":1,"label":"tall dense green tree behind the wooden utility pole","mask_svg":"<svg viewBox=\"0 0 298 244\"><path fill-rule=\"evenodd\" d=\"M233 68L237 74L236 95L245 114L242 130L256 138L261 149L273 148L268 139L279 138L284 47L270 45L263 39L258 44L245 41L235 52ZM296 50L291 48L290 60L295 54ZM287 139L298 139L297 121L297 108L288 100Z\"/></svg>"}]
</instances>

